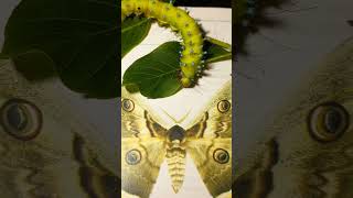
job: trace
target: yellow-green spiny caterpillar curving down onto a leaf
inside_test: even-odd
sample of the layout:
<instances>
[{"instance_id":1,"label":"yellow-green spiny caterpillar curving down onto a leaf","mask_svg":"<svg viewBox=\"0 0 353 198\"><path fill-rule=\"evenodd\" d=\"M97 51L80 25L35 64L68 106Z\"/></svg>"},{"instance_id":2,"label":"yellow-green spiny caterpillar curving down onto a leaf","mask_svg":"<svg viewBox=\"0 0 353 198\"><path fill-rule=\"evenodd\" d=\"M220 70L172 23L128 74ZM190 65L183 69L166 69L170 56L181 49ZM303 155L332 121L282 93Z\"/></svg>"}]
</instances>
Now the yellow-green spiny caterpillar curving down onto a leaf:
<instances>
[{"instance_id":1,"label":"yellow-green spiny caterpillar curving down onto a leaf","mask_svg":"<svg viewBox=\"0 0 353 198\"><path fill-rule=\"evenodd\" d=\"M143 14L180 32L183 40L181 84L183 87L193 86L204 67L203 34L196 21L186 11L159 0L121 0L121 21L130 14Z\"/></svg>"}]
</instances>

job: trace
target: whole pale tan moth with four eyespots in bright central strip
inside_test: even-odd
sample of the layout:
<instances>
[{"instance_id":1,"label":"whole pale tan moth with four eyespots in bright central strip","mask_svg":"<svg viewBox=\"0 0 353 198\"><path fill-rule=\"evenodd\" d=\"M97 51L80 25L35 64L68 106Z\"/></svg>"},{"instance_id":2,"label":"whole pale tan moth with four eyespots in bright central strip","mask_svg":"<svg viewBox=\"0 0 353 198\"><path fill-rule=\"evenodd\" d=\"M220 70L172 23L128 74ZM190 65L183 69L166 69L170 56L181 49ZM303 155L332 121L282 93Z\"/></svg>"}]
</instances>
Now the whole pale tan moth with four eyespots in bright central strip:
<instances>
[{"instance_id":1,"label":"whole pale tan moth with four eyespots in bright central strip","mask_svg":"<svg viewBox=\"0 0 353 198\"><path fill-rule=\"evenodd\" d=\"M161 125L158 113L136 95L121 94L121 186L131 195L149 197L165 161L172 188L182 188L190 155L210 194L232 188L232 97L228 81L188 128Z\"/></svg>"}]
</instances>

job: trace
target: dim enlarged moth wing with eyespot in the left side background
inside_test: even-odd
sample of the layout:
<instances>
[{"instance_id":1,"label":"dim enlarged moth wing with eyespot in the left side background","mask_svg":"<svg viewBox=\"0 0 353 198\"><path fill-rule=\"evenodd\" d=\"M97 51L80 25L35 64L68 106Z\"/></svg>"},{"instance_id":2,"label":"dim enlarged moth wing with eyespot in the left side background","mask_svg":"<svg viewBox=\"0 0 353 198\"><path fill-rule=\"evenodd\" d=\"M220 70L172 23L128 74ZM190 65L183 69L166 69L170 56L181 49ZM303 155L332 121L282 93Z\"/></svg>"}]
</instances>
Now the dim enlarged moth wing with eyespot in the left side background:
<instances>
[{"instance_id":1,"label":"dim enlarged moth wing with eyespot in the left side background","mask_svg":"<svg viewBox=\"0 0 353 198\"><path fill-rule=\"evenodd\" d=\"M118 197L118 163L100 131L75 117L51 82L0 62L1 197Z\"/></svg>"}]
</instances>

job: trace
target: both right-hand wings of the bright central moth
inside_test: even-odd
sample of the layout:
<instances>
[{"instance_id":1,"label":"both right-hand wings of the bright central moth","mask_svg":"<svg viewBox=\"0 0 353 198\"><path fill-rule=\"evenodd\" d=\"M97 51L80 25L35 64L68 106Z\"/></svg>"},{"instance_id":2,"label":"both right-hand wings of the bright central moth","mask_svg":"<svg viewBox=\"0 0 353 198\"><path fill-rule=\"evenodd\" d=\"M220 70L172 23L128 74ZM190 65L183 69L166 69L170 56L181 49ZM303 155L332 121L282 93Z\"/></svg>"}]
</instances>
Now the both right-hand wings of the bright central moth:
<instances>
[{"instance_id":1,"label":"both right-hand wings of the bright central moth","mask_svg":"<svg viewBox=\"0 0 353 198\"><path fill-rule=\"evenodd\" d=\"M212 196L232 188L232 84L231 80L186 130L186 150Z\"/></svg>"}]
</instances>

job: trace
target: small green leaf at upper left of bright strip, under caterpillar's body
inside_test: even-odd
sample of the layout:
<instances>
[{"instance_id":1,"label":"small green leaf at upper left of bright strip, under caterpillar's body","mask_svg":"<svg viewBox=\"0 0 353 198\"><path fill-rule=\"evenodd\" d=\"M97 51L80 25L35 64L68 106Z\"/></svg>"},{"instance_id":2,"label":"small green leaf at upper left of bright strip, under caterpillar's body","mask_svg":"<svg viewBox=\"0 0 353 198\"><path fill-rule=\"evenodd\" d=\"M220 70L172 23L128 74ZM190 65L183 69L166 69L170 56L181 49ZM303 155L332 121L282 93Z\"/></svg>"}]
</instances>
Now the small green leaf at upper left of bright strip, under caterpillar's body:
<instances>
[{"instance_id":1,"label":"small green leaf at upper left of bright strip, under caterpillar's body","mask_svg":"<svg viewBox=\"0 0 353 198\"><path fill-rule=\"evenodd\" d=\"M151 20L147 18L127 18L121 24L121 56L128 54L148 35Z\"/></svg>"}]
</instances>

